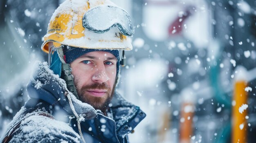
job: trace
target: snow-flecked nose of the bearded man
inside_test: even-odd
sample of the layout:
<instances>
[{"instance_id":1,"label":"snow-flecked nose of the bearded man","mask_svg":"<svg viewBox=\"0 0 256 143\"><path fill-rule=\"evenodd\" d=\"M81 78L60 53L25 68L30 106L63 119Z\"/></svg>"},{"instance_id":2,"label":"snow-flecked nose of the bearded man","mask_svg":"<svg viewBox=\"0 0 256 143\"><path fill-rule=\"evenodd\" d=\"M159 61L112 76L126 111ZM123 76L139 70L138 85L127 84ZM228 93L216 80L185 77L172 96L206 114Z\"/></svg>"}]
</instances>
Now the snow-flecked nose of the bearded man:
<instances>
[{"instance_id":1,"label":"snow-flecked nose of the bearded man","mask_svg":"<svg viewBox=\"0 0 256 143\"><path fill-rule=\"evenodd\" d=\"M97 65L95 73L92 75L92 81L102 84L108 81L108 75L106 74L106 69L104 64Z\"/></svg>"}]
</instances>

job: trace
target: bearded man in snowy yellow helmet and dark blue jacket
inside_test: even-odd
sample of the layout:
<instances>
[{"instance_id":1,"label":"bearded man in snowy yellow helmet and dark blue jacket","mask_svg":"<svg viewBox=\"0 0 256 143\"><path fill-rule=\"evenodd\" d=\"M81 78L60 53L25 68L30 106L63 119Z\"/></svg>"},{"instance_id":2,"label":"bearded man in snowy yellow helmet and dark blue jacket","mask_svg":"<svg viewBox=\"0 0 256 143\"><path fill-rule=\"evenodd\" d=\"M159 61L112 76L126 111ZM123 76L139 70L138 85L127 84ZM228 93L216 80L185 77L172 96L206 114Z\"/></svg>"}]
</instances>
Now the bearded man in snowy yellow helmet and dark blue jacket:
<instances>
[{"instance_id":1,"label":"bearded man in snowy yellow helmet and dark blue jacket","mask_svg":"<svg viewBox=\"0 0 256 143\"><path fill-rule=\"evenodd\" d=\"M130 16L109 0L66 0L53 13L27 86L29 100L16 114L4 143L128 143L146 117L115 91L118 50L131 50ZM124 55L121 64L123 64Z\"/></svg>"}]
</instances>

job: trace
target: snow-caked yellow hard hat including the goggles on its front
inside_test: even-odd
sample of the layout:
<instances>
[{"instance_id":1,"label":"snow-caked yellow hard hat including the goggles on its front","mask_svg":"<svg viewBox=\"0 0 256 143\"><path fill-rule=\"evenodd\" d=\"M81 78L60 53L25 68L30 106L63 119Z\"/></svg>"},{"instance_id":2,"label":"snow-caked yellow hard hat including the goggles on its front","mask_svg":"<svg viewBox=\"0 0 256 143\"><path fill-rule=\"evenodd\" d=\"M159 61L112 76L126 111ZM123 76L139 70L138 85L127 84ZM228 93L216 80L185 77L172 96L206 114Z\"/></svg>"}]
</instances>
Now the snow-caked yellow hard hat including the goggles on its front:
<instances>
[{"instance_id":1,"label":"snow-caked yellow hard hat including the goggles on its front","mask_svg":"<svg viewBox=\"0 0 256 143\"><path fill-rule=\"evenodd\" d=\"M66 0L54 11L41 48L46 53L50 45L132 50L133 33L128 13L110 0Z\"/></svg>"}]
</instances>

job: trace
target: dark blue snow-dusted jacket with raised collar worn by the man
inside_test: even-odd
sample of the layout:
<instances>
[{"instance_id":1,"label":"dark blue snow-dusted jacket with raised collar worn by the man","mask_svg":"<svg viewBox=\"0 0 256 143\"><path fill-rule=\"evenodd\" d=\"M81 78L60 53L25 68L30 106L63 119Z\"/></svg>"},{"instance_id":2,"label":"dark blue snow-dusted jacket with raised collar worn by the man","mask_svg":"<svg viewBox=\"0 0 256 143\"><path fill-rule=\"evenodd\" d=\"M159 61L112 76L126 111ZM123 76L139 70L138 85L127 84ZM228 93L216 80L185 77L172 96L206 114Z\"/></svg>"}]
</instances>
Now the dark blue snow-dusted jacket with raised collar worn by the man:
<instances>
[{"instance_id":1,"label":"dark blue snow-dusted jacket with raised collar worn by the man","mask_svg":"<svg viewBox=\"0 0 256 143\"><path fill-rule=\"evenodd\" d=\"M76 112L85 119L81 122L81 131L86 143L128 143L127 134L146 117L139 107L117 92L106 117L76 99L46 62L36 62L35 69L27 86L30 98L13 117L1 143L82 143L67 94Z\"/></svg>"}]
</instances>

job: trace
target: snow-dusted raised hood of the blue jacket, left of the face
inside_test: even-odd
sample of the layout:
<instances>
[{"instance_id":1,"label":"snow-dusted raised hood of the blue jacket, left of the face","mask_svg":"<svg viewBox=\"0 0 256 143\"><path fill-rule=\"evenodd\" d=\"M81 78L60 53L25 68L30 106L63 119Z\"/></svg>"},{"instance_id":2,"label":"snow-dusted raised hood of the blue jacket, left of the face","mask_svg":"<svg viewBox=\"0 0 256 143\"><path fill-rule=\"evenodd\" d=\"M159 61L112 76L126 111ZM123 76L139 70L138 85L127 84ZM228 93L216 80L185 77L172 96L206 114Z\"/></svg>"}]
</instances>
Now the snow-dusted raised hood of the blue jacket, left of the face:
<instances>
[{"instance_id":1,"label":"snow-dusted raised hood of the blue jacket, left of the face","mask_svg":"<svg viewBox=\"0 0 256 143\"><path fill-rule=\"evenodd\" d=\"M81 114L85 119L92 119L97 115L97 111L91 105L76 99L67 90L65 81L49 69L47 62L37 61L35 63L34 74L27 85L27 91L30 98L41 99L52 106L61 106L69 114L73 114L67 99L67 94L69 94L77 114Z\"/></svg>"}]
</instances>

